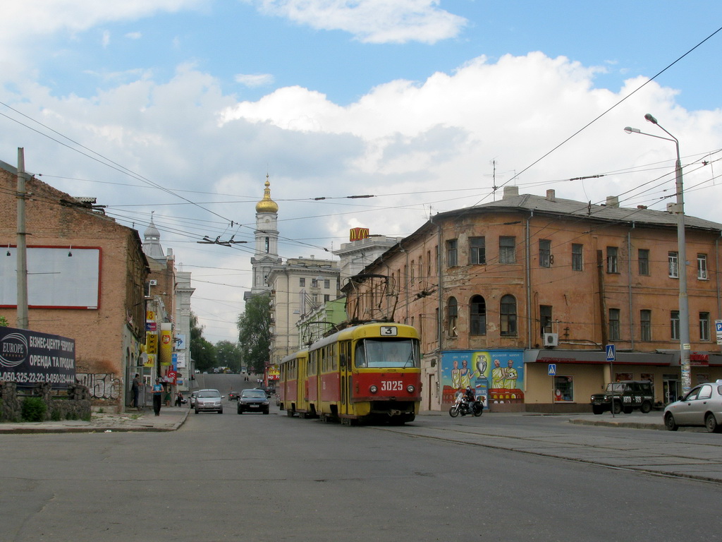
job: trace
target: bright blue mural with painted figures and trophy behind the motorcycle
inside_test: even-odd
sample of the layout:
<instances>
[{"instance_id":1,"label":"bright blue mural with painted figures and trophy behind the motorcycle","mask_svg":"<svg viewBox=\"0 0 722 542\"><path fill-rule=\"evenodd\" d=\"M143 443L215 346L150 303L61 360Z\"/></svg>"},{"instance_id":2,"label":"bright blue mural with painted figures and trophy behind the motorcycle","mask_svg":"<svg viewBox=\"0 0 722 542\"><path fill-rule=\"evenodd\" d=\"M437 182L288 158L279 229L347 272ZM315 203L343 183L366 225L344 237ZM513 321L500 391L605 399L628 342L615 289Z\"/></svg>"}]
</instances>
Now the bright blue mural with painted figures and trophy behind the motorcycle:
<instances>
[{"instance_id":1,"label":"bright blue mural with painted figures and trophy behind the motorcycle","mask_svg":"<svg viewBox=\"0 0 722 542\"><path fill-rule=\"evenodd\" d=\"M467 386L490 403L523 403L522 350L451 350L441 355L442 402Z\"/></svg>"}]
</instances>

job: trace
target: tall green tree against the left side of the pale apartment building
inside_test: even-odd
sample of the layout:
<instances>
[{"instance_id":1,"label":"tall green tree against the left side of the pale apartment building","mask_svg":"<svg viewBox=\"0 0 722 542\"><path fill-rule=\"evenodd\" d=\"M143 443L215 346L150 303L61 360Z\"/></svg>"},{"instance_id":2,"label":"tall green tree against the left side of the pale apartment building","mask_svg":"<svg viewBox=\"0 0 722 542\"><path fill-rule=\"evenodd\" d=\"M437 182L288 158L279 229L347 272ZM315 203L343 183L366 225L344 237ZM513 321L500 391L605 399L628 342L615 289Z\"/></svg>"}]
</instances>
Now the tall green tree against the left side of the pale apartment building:
<instances>
[{"instance_id":1,"label":"tall green tree against the left side of the pale apartment building","mask_svg":"<svg viewBox=\"0 0 722 542\"><path fill-rule=\"evenodd\" d=\"M238 342L248 371L263 373L271 346L271 301L263 294L245 302L245 312L238 317Z\"/></svg>"}]
</instances>

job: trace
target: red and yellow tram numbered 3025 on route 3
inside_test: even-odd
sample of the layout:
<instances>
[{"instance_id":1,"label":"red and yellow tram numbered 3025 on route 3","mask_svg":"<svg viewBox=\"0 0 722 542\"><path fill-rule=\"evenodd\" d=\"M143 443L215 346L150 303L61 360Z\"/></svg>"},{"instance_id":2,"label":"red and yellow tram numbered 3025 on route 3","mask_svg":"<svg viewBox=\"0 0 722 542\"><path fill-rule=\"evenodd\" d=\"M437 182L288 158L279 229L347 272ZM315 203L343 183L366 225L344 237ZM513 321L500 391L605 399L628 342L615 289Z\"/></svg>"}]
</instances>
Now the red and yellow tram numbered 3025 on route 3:
<instances>
[{"instance_id":1,"label":"red and yellow tram numbered 3025 on route 3","mask_svg":"<svg viewBox=\"0 0 722 542\"><path fill-rule=\"evenodd\" d=\"M288 416L347 424L413 421L421 403L417 331L373 322L323 337L283 358L277 392Z\"/></svg>"}]
</instances>

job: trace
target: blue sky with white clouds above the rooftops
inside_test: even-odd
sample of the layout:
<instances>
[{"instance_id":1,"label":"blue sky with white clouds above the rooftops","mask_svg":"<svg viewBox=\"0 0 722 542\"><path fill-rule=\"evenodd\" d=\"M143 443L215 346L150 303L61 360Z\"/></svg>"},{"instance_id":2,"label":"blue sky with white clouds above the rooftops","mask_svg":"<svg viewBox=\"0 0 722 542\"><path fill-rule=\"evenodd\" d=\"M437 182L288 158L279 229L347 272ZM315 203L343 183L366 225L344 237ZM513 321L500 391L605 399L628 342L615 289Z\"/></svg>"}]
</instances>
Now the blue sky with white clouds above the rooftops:
<instances>
[{"instance_id":1,"label":"blue sky with white clouds above the rooftops","mask_svg":"<svg viewBox=\"0 0 722 542\"><path fill-rule=\"evenodd\" d=\"M654 133L651 112L680 140L687 212L722 222L710 205L722 32L644 85L722 27L718 1L26 0L5 11L0 160L25 147L29 171L141 233L155 212L162 244L193 272L212 342L235 337L250 246L196 240L250 239L266 173L282 257L324 257L357 225L403 236L430 212L491 201L492 160L497 186L664 209L671 176L636 187L671 171L674 147L622 131Z\"/></svg>"}]
</instances>

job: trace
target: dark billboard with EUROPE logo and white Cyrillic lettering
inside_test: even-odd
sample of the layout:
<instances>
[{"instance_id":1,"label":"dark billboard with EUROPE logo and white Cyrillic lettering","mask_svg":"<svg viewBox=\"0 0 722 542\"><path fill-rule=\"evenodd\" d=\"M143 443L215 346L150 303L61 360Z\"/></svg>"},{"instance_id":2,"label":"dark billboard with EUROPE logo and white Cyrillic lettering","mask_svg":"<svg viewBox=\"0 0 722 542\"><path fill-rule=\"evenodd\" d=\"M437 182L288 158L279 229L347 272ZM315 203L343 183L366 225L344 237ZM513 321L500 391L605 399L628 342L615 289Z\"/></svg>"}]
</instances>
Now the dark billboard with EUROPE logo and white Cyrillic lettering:
<instances>
[{"instance_id":1,"label":"dark billboard with EUROPE logo and white Cyrillic lettering","mask_svg":"<svg viewBox=\"0 0 722 542\"><path fill-rule=\"evenodd\" d=\"M12 327L0 327L0 381L19 386L75 382L75 340Z\"/></svg>"}]
</instances>

